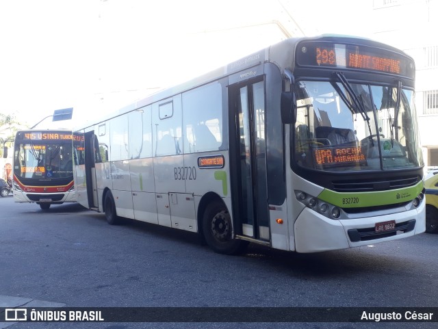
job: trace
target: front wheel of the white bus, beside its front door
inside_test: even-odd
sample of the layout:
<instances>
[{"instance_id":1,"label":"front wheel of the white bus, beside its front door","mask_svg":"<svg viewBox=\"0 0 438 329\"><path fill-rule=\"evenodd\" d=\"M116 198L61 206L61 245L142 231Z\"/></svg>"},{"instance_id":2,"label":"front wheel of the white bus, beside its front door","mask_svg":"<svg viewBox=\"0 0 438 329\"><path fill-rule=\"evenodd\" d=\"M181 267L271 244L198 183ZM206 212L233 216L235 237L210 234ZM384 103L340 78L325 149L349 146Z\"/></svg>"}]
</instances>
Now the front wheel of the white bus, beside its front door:
<instances>
[{"instance_id":1,"label":"front wheel of the white bus, beside its front door","mask_svg":"<svg viewBox=\"0 0 438 329\"><path fill-rule=\"evenodd\" d=\"M232 238L233 223L223 202L213 202L207 206L203 216L203 235L214 252L238 254L248 245L246 241Z\"/></svg>"}]
</instances>

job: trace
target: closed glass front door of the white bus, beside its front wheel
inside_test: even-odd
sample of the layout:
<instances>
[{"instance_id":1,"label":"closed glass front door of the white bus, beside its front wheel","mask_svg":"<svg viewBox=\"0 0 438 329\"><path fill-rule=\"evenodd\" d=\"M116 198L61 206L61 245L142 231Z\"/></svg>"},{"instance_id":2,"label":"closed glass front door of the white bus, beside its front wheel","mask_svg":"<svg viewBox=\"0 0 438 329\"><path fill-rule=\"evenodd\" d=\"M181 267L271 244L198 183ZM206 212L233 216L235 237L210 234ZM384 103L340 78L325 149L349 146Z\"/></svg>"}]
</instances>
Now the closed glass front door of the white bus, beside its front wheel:
<instances>
[{"instance_id":1,"label":"closed glass front door of the white bus, beside its front wheel","mask_svg":"<svg viewBox=\"0 0 438 329\"><path fill-rule=\"evenodd\" d=\"M231 89L235 107L236 159L232 179L237 198L233 207L236 232L244 237L270 239L266 184L265 86L264 81ZM233 130L233 129L232 129ZM237 202L237 205L236 205Z\"/></svg>"}]
</instances>

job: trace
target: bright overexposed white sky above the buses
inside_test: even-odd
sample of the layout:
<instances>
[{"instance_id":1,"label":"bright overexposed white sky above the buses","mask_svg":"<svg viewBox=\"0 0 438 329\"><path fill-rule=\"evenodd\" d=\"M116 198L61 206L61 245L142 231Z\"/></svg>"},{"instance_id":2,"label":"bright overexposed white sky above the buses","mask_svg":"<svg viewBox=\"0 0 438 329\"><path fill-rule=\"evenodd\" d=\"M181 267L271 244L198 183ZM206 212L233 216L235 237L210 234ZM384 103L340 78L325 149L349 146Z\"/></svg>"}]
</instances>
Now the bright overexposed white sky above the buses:
<instances>
[{"instance_id":1,"label":"bright overexposed white sky above the buses","mask_svg":"<svg viewBox=\"0 0 438 329\"><path fill-rule=\"evenodd\" d=\"M280 25L368 37L361 20L348 0L0 0L0 113L81 122L279 42Z\"/></svg>"}]
</instances>

